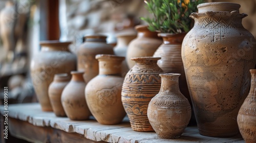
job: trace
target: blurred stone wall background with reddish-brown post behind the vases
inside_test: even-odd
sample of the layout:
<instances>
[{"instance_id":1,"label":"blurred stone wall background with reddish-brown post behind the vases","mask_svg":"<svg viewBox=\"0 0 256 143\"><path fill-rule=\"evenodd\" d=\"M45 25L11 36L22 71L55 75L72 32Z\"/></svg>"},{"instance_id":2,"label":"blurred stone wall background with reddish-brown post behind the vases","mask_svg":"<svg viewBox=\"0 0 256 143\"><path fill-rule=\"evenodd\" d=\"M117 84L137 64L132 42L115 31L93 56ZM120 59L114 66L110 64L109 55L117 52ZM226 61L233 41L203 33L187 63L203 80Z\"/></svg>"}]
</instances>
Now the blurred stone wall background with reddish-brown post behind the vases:
<instances>
[{"instance_id":1,"label":"blurred stone wall background with reddish-brown post behind the vases","mask_svg":"<svg viewBox=\"0 0 256 143\"><path fill-rule=\"evenodd\" d=\"M243 26L256 36L256 0L229 0L241 5L248 16ZM108 43L115 35L135 31L149 16L142 0L13 0L0 1L0 104L8 87L8 104L37 102L30 78L30 60L43 40L72 41L76 53L88 34L104 34Z\"/></svg>"}]
</instances>

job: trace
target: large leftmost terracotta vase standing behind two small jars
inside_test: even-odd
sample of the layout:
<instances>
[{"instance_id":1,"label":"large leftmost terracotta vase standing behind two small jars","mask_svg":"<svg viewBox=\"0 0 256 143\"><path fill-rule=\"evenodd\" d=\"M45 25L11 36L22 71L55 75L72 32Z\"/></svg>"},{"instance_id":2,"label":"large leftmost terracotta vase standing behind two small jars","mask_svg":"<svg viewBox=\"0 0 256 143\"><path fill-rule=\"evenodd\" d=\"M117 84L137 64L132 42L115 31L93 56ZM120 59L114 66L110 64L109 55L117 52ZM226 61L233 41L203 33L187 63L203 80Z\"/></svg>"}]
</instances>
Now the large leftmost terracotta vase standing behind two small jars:
<instances>
[{"instance_id":1,"label":"large leftmost terracotta vase standing behind two small jars","mask_svg":"<svg viewBox=\"0 0 256 143\"><path fill-rule=\"evenodd\" d=\"M76 56L69 51L69 44L71 42L40 42L41 51L31 61L31 78L43 111L52 111L48 87L54 75L70 73L76 69Z\"/></svg>"}]
</instances>

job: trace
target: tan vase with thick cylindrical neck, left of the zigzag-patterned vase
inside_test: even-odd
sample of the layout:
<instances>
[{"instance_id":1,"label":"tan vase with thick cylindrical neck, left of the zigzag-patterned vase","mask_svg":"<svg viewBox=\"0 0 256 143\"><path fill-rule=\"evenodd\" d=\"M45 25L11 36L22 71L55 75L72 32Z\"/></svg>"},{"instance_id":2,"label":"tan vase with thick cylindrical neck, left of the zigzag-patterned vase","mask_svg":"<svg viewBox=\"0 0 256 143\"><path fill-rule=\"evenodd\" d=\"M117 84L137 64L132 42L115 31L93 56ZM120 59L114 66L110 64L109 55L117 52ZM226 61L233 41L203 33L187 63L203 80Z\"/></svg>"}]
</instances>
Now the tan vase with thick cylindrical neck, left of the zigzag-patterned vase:
<instances>
[{"instance_id":1,"label":"tan vase with thick cylindrical neck, left of the zigzag-patterned vase","mask_svg":"<svg viewBox=\"0 0 256 143\"><path fill-rule=\"evenodd\" d=\"M121 65L124 57L97 55L99 75L86 86L86 101L97 122L104 125L119 124L125 116L121 102Z\"/></svg>"}]
</instances>

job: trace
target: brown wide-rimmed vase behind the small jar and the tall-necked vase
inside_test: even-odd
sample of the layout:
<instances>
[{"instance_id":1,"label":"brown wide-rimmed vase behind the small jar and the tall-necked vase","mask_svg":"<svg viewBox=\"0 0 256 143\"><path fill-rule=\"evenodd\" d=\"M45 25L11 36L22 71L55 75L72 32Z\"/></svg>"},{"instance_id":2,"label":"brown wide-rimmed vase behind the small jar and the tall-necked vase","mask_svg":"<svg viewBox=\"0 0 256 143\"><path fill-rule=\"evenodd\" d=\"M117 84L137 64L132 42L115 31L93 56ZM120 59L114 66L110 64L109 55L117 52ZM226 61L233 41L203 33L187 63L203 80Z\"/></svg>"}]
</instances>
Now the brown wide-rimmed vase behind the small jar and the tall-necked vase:
<instances>
[{"instance_id":1,"label":"brown wide-rimmed vase behind the small jar and the tall-necked vase","mask_svg":"<svg viewBox=\"0 0 256 143\"><path fill-rule=\"evenodd\" d=\"M97 54L114 54L114 51L112 45L106 44L106 36L91 35L85 38L86 41L77 51L77 66L79 71L84 71L83 79L88 83L99 73L99 65L95 56Z\"/></svg>"}]
</instances>

